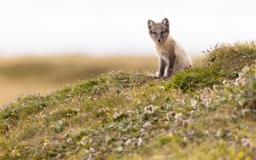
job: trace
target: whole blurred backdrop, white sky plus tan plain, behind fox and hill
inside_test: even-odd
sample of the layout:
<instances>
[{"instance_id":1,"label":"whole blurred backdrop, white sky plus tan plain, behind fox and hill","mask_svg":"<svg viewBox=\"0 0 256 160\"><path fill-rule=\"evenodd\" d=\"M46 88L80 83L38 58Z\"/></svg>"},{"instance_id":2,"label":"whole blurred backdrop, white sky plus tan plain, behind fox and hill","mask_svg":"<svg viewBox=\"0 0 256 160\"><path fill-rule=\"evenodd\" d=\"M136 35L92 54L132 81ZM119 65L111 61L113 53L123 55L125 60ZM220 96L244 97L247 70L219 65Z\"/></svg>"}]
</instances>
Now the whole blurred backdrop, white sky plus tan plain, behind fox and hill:
<instances>
[{"instance_id":1,"label":"whole blurred backdrop, white sky plus tan plain, behind fox and hill","mask_svg":"<svg viewBox=\"0 0 256 160\"><path fill-rule=\"evenodd\" d=\"M20 94L158 65L147 21L170 20L194 59L216 43L256 39L254 0L0 2L0 105Z\"/></svg>"}]
</instances>

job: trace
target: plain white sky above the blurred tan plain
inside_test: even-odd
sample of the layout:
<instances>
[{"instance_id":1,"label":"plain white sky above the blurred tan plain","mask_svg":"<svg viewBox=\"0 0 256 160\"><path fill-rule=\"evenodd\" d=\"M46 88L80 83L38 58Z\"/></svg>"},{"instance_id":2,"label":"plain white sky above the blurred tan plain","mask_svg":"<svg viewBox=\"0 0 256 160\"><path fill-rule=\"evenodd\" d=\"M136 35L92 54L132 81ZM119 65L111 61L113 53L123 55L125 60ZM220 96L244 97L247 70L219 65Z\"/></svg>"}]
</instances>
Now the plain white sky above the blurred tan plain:
<instances>
[{"instance_id":1,"label":"plain white sky above the blurred tan plain","mask_svg":"<svg viewBox=\"0 0 256 160\"><path fill-rule=\"evenodd\" d=\"M0 56L152 55L148 19L189 54L256 40L255 0L0 0Z\"/></svg>"}]
</instances>

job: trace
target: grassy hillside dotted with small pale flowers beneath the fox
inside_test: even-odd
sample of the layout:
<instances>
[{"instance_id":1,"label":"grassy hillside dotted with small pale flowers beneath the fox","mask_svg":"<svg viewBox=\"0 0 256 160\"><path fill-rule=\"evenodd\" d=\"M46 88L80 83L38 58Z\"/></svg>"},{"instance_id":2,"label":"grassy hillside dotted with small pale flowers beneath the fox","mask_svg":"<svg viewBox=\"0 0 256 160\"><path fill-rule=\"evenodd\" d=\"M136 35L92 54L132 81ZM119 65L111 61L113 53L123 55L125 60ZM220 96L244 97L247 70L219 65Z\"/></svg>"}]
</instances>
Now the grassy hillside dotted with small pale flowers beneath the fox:
<instances>
[{"instance_id":1,"label":"grassy hillside dotted with small pale flowers beneath the fox","mask_svg":"<svg viewBox=\"0 0 256 160\"><path fill-rule=\"evenodd\" d=\"M3 159L255 159L256 45L220 44L168 80L109 72L17 98Z\"/></svg>"}]
</instances>

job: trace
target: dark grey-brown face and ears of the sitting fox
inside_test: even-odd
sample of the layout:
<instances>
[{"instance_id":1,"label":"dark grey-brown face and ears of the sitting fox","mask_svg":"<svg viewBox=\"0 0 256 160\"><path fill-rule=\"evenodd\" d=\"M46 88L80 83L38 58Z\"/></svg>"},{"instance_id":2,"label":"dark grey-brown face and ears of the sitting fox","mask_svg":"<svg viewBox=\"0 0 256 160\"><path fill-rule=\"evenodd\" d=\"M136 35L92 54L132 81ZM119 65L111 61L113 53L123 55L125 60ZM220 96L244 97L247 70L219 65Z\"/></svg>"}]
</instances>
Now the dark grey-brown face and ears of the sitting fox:
<instances>
[{"instance_id":1,"label":"dark grey-brown face and ears of the sitting fox","mask_svg":"<svg viewBox=\"0 0 256 160\"><path fill-rule=\"evenodd\" d=\"M148 20L148 29L155 43L164 43L169 35L169 20L165 18L160 23Z\"/></svg>"}]
</instances>

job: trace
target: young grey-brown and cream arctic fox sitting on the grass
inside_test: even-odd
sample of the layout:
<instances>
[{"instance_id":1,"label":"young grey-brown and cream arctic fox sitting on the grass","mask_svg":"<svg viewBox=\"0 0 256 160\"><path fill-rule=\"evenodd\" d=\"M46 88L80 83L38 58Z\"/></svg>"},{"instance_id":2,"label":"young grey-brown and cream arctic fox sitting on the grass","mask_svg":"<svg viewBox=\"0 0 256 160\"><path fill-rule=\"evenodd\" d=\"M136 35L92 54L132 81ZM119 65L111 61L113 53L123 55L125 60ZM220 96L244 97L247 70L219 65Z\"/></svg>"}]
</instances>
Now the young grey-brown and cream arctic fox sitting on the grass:
<instances>
[{"instance_id":1,"label":"young grey-brown and cream arctic fox sitting on the grass","mask_svg":"<svg viewBox=\"0 0 256 160\"><path fill-rule=\"evenodd\" d=\"M192 61L184 49L170 36L168 19L165 18L160 23L148 20L148 29L160 57L157 77L172 77L178 71L192 66Z\"/></svg>"}]
</instances>

